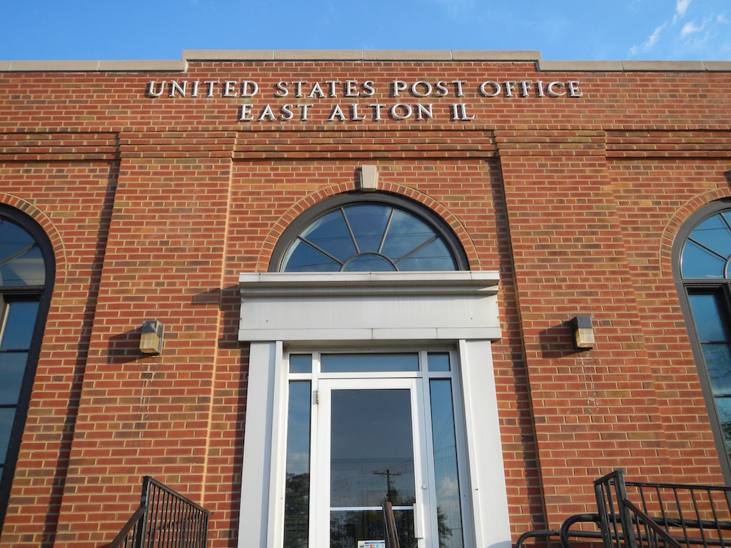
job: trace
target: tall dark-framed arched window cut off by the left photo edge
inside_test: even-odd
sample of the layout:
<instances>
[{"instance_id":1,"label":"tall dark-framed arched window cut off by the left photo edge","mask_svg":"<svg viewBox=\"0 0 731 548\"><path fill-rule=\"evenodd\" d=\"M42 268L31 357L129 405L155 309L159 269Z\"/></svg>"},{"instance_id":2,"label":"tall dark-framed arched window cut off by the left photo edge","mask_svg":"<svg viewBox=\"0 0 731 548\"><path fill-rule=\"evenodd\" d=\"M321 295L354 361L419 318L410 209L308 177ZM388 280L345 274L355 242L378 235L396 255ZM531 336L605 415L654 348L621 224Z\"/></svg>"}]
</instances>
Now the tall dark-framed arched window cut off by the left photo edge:
<instances>
[{"instance_id":1,"label":"tall dark-framed arched window cut off by the left photo edge","mask_svg":"<svg viewBox=\"0 0 731 548\"><path fill-rule=\"evenodd\" d=\"M0 527L26 422L50 292L53 254L42 229L0 207Z\"/></svg>"}]
</instances>

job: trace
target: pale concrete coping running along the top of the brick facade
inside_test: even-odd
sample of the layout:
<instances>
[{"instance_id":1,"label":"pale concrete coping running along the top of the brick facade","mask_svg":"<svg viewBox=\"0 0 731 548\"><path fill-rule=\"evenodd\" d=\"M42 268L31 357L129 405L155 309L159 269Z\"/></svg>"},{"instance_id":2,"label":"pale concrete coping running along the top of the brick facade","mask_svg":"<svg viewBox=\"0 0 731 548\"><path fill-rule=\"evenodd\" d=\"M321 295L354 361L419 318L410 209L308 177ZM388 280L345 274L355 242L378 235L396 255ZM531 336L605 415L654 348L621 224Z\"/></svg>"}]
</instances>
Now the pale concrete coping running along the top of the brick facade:
<instances>
[{"instance_id":1,"label":"pale concrete coping running along the top of the brick facade","mask_svg":"<svg viewBox=\"0 0 731 548\"><path fill-rule=\"evenodd\" d=\"M206 61L521 61L541 72L731 72L731 61L543 61L539 51L466 50L183 50L181 61L0 61L0 72L186 72Z\"/></svg>"}]
</instances>

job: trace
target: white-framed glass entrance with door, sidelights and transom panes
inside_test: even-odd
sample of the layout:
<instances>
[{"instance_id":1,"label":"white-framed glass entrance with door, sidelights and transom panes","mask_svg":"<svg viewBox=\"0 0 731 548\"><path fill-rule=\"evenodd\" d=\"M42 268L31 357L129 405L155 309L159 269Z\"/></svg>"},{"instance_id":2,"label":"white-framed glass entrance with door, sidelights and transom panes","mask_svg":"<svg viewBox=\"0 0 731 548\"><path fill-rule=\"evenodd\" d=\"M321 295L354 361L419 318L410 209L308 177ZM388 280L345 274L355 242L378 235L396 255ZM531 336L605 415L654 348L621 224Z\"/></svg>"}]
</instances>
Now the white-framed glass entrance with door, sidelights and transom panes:
<instances>
[{"instance_id":1,"label":"white-framed glass entrance with door, sidelights and transom panes","mask_svg":"<svg viewBox=\"0 0 731 548\"><path fill-rule=\"evenodd\" d=\"M462 548L448 352L289 357L284 548Z\"/></svg>"}]
</instances>

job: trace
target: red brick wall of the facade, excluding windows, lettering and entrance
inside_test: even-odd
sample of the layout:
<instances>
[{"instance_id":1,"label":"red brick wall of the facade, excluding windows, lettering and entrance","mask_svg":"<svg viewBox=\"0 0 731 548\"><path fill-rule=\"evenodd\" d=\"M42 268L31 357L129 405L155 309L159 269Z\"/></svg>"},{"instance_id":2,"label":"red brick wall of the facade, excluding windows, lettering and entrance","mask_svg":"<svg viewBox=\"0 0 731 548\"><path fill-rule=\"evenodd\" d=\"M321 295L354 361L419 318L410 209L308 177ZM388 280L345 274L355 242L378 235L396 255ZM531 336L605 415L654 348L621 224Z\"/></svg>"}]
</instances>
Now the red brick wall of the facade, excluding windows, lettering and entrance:
<instances>
[{"instance_id":1,"label":"red brick wall of the facade, excluding windows, lettering and entrance","mask_svg":"<svg viewBox=\"0 0 731 548\"><path fill-rule=\"evenodd\" d=\"M391 80L460 79L400 99ZM145 98L150 80L256 80L254 99ZM374 80L361 104L433 103L433 121L240 122L280 80ZM578 80L583 96L485 98L485 80ZM670 248L731 195L731 75L537 72L533 63L191 63L186 73L0 73L0 202L42 224L56 286L0 545L110 541L149 474L237 542L247 348L238 274L266 270L311 205L379 166L433 208L474 270L499 270L493 345L515 536L591 508L591 481L721 482ZM218 89L218 88L217 88ZM448 120L450 104L471 121ZM596 347L565 322L594 319ZM165 324L140 357L145 319Z\"/></svg>"}]
</instances>

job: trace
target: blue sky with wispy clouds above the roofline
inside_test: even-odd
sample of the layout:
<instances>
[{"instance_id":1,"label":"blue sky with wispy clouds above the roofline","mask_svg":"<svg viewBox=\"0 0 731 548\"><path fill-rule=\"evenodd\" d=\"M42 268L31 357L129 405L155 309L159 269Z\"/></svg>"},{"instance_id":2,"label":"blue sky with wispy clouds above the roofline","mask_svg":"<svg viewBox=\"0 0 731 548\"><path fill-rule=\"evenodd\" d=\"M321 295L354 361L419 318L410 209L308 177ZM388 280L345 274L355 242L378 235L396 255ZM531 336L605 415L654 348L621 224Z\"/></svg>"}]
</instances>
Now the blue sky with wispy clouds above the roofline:
<instances>
[{"instance_id":1,"label":"blue sky with wispy clouds above the roofline","mask_svg":"<svg viewBox=\"0 0 731 548\"><path fill-rule=\"evenodd\" d=\"M183 50L537 50L729 61L731 0L4 0L0 60Z\"/></svg>"}]
</instances>

